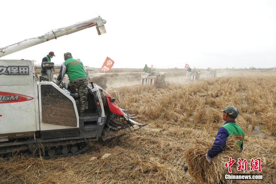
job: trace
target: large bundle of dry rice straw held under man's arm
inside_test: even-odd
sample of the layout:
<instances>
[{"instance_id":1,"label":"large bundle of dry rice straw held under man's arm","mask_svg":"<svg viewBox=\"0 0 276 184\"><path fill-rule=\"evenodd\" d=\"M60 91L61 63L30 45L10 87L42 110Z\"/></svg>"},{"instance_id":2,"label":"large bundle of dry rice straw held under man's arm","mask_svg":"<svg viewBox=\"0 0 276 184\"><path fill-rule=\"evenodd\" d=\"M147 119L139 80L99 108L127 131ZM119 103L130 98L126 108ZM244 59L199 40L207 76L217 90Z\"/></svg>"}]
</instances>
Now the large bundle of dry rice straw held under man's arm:
<instances>
[{"instance_id":1,"label":"large bundle of dry rice straw held under man's arm","mask_svg":"<svg viewBox=\"0 0 276 184\"><path fill-rule=\"evenodd\" d=\"M205 155L212 147L212 142L197 140L194 147L190 147L185 152L186 162L188 164L188 171L194 180L198 183L218 183L219 180L224 179L224 175L228 172L228 168L224 166L225 162L232 157L237 161L239 154L237 152L237 140L229 136L227 138L224 150L217 156L212 158L212 163L209 164ZM234 165L232 166L232 170Z\"/></svg>"}]
</instances>

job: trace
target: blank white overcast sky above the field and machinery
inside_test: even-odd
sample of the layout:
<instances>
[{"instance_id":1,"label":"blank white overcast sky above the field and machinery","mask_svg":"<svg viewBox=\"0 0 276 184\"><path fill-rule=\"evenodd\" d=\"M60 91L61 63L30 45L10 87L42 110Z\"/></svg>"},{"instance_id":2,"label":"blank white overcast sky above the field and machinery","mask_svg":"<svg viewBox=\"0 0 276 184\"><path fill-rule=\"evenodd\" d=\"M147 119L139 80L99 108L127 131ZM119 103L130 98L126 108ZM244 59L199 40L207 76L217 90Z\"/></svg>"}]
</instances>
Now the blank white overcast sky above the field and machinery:
<instances>
[{"instance_id":1,"label":"blank white overcast sky above the field and machinery","mask_svg":"<svg viewBox=\"0 0 276 184\"><path fill-rule=\"evenodd\" d=\"M97 14L107 21L107 34L92 27L0 59L39 64L54 51L56 64L71 52L91 67L107 56L115 68L276 66L275 0L1 1L0 47Z\"/></svg>"}]
</instances>

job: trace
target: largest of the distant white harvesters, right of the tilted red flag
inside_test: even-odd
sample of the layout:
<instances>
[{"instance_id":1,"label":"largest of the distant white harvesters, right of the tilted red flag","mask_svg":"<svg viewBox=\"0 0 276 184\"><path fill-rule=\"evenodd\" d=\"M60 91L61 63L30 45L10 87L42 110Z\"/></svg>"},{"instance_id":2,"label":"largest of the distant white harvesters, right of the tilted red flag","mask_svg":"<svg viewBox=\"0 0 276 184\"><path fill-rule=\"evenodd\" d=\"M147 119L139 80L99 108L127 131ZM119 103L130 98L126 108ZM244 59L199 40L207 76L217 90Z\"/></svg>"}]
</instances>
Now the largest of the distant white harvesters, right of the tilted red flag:
<instances>
[{"instance_id":1,"label":"largest of the distant white harvesters, right of the tilted red flag","mask_svg":"<svg viewBox=\"0 0 276 184\"><path fill-rule=\"evenodd\" d=\"M148 72L142 72L140 84L142 85L158 85L165 82L165 72L157 72L154 67L149 67Z\"/></svg>"}]
</instances>

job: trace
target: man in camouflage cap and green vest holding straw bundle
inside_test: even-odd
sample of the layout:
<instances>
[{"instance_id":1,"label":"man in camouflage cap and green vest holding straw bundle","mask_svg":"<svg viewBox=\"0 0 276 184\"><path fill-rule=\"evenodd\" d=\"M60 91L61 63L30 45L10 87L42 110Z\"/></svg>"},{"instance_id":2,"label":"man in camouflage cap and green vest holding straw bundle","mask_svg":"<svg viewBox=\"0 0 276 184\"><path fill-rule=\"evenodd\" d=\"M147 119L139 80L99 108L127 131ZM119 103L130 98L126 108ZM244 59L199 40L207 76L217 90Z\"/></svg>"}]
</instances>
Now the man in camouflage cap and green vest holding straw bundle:
<instances>
[{"instance_id":1,"label":"man in camouflage cap and green vest holding straw bundle","mask_svg":"<svg viewBox=\"0 0 276 184\"><path fill-rule=\"evenodd\" d=\"M213 146L206 154L206 159L210 164L212 163L212 158L223 151L228 136L233 136L238 140L239 152L243 149L244 131L235 121L239 115L239 110L236 107L227 106L221 111L223 111L223 120L226 122L218 129Z\"/></svg>"}]
</instances>

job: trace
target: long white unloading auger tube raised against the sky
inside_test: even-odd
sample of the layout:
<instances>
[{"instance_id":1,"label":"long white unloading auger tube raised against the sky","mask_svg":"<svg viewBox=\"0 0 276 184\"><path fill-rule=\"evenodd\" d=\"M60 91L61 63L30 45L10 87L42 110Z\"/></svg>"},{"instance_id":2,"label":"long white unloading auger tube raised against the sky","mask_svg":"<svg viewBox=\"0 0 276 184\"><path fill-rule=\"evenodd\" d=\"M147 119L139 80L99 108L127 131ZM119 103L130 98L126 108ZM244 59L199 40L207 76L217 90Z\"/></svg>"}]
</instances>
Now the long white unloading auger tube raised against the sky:
<instances>
[{"instance_id":1,"label":"long white unloading auger tube raised against the sky","mask_svg":"<svg viewBox=\"0 0 276 184\"><path fill-rule=\"evenodd\" d=\"M23 40L22 42L19 42L19 43L13 44L13 45L9 45L7 47L0 48L0 58L5 55L9 55L11 53L15 53L19 50L23 50L28 47L38 45L40 43L47 42L52 39L57 39L58 37L61 37L61 36L67 35L67 34L72 34L77 31L81 31L83 29L90 28L93 26L96 26L98 35L101 35L101 34L106 33L106 30L104 27L105 23L106 23L106 20L102 19L99 16L97 18L86 20L84 22L76 23L72 26L52 30L46 34L39 36L39 37L26 39L26 40Z\"/></svg>"}]
</instances>

